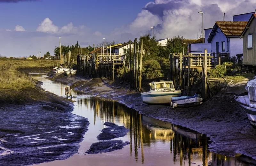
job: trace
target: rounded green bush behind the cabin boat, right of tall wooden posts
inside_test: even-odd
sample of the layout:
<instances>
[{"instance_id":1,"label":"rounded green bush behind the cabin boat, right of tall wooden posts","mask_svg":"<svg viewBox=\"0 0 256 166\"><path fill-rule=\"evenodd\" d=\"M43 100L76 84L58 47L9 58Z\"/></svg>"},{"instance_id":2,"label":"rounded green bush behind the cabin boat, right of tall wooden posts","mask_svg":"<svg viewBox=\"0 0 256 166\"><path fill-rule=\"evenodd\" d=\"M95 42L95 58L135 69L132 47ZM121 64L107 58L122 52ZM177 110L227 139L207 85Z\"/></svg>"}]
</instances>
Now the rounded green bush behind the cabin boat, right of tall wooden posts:
<instances>
[{"instance_id":1,"label":"rounded green bush behind the cabin boat, right of tall wooden posts","mask_svg":"<svg viewBox=\"0 0 256 166\"><path fill-rule=\"evenodd\" d=\"M147 60L143 64L142 74L145 79L163 77L161 66L157 60Z\"/></svg>"}]
</instances>

